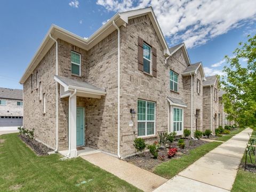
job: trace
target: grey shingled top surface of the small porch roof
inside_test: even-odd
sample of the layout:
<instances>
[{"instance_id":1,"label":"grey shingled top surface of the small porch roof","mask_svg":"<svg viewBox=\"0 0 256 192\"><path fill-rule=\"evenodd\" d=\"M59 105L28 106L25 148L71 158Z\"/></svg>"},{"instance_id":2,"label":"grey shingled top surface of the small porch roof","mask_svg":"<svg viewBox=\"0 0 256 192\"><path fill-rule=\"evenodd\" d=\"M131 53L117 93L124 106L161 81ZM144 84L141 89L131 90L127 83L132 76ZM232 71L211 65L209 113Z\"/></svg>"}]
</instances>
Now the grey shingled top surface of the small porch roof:
<instances>
[{"instance_id":1,"label":"grey shingled top surface of the small porch roof","mask_svg":"<svg viewBox=\"0 0 256 192\"><path fill-rule=\"evenodd\" d=\"M75 79L71 79L68 77L61 77L61 76L57 76L57 75L54 75L54 76L57 77L58 79L60 79L60 81L62 81L63 83L65 83L68 86L76 86L76 87L82 87L82 88L91 89L91 90L105 91L105 90L100 89L99 87L94 86L90 83L77 81Z\"/></svg>"}]
</instances>

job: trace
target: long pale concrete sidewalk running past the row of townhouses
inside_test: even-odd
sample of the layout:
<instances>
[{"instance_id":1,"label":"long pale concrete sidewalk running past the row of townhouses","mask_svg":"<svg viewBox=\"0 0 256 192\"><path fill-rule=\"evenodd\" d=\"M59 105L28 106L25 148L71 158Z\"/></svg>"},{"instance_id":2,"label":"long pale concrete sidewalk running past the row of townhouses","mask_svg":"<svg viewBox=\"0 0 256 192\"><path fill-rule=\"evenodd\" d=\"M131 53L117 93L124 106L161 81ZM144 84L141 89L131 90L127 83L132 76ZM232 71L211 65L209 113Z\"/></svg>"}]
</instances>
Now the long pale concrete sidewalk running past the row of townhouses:
<instances>
[{"instance_id":1,"label":"long pale concrete sidewalk running past the row of townhouses","mask_svg":"<svg viewBox=\"0 0 256 192\"><path fill-rule=\"evenodd\" d=\"M154 191L230 191L249 140L248 133L252 129L238 133Z\"/></svg>"}]
</instances>

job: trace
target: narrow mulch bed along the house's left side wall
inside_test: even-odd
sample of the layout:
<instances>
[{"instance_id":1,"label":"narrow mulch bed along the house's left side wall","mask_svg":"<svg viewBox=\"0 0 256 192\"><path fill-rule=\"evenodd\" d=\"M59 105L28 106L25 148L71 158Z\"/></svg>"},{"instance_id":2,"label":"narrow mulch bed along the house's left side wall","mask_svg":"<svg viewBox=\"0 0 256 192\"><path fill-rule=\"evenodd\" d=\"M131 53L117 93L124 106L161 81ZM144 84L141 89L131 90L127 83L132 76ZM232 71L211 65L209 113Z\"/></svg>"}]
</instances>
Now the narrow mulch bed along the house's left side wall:
<instances>
[{"instance_id":1,"label":"narrow mulch bed along the house's left side wall","mask_svg":"<svg viewBox=\"0 0 256 192\"><path fill-rule=\"evenodd\" d=\"M43 143L29 139L26 135L19 135L18 137L39 156L49 155L48 152L52 151L51 148L46 147Z\"/></svg>"}]
</instances>

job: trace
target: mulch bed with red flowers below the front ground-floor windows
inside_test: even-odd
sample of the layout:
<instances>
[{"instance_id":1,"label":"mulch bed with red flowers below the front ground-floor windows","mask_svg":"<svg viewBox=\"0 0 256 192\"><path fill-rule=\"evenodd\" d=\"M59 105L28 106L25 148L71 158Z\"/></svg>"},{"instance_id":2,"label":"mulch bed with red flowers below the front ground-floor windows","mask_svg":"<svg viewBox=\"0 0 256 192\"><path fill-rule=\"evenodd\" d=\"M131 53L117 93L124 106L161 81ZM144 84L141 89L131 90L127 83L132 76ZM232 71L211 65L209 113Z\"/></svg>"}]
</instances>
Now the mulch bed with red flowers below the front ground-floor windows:
<instances>
[{"instance_id":1,"label":"mulch bed with red flowers below the front ground-floor windows","mask_svg":"<svg viewBox=\"0 0 256 192\"><path fill-rule=\"evenodd\" d=\"M185 140L185 148L181 149L178 147L178 140L175 140L170 147L176 147L178 149L177 154L175 154L174 157L172 158L180 158L182 155L189 154L189 151L191 149L195 149L201 145L204 145L207 143L207 141L202 141L202 140L192 140L192 139L184 139ZM168 148L163 148L158 150L158 158L154 159L152 158L151 154L149 151L144 152L143 156L138 154L138 155L133 155L131 157L127 157L124 160L126 162L132 163L141 169L145 169L147 171L153 172L154 167L156 167L158 164L170 161L172 158L168 158L167 156ZM159 157L164 157L164 160L162 161Z\"/></svg>"}]
</instances>

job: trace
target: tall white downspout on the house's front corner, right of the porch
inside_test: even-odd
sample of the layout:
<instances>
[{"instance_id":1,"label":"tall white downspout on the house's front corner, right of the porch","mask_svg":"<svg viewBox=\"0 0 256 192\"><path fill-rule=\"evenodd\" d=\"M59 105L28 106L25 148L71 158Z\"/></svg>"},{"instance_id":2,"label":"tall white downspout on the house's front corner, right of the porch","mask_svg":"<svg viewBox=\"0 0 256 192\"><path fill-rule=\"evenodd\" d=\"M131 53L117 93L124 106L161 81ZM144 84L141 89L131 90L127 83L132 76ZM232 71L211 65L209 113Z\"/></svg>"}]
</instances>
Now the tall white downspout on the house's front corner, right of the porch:
<instances>
[{"instance_id":1,"label":"tall white downspout on the house's front corner, right of the porch","mask_svg":"<svg viewBox=\"0 0 256 192\"><path fill-rule=\"evenodd\" d=\"M117 29L117 156L120 155L120 29L113 21L114 27Z\"/></svg>"}]
</instances>

